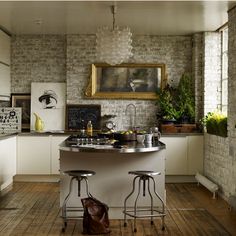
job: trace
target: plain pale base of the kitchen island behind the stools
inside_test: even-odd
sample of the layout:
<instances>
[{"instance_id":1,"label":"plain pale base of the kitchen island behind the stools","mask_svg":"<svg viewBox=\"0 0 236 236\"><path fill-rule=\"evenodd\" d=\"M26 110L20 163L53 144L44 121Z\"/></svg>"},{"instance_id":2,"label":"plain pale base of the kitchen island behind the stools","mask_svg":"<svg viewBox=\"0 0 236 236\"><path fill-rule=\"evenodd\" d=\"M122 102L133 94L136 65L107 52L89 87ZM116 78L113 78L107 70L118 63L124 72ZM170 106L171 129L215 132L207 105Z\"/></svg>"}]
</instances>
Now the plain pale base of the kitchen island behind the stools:
<instances>
[{"instance_id":1,"label":"plain pale base of the kitchen island behind the stools","mask_svg":"<svg viewBox=\"0 0 236 236\"><path fill-rule=\"evenodd\" d=\"M60 206L62 206L62 203L68 194L70 181L70 177L63 172L76 169L92 170L96 172L96 175L88 177L90 193L109 206L110 219L123 219L122 211L124 200L132 190L134 178L133 175L128 175L128 172L131 170L152 170L161 172L161 175L154 176L154 178L156 181L156 190L165 202L165 149L144 153L79 152L61 150ZM137 187L138 186L136 186L136 190L138 190ZM82 194L84 194L86 191L83 184L81 189ZM137 191L136 194L134 194L134 197L127 202L128 206L133 206L136 196ZM86 196L82 195L82 197ZM159 201L155 201L154 203L156 204L155 206L161 206ZM150 197L148 191L146 191L146 197L144 199L141 190L138 205L146 206L149 204ZM77 181L74 181L73 192L67 206L81 206L81 201L77 197Z\"/></svg>"}]
</instances>

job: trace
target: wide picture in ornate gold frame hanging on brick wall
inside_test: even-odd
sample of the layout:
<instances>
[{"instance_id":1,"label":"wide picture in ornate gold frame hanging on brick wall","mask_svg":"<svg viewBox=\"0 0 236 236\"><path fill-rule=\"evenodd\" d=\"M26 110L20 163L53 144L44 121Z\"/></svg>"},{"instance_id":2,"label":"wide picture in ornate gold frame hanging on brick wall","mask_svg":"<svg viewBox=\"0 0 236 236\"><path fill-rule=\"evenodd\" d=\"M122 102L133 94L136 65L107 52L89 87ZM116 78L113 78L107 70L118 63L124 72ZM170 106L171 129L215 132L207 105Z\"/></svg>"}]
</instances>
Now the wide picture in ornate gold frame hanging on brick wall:
<instances>
[{"instance_id":1,"label":"wide picture in ornate gold frame hanging on brick wall","mask_svg":"<svg viewBox=\"0 0 236 236\"><path fill-rule=\"evenodd\" d=\"M166 82L165 64L92 64L86 96L115 99L156 99Z\"/></svg>"}]
</instances>

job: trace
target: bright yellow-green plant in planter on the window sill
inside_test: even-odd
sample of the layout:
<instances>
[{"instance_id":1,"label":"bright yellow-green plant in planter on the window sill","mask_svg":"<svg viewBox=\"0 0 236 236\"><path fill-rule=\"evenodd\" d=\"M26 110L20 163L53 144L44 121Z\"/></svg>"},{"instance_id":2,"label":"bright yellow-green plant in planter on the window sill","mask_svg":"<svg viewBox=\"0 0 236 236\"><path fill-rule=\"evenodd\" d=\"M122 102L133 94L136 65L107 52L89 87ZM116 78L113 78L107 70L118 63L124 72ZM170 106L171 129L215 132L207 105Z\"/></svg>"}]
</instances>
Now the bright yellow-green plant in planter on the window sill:
<instances>
[{"instance_id":1,"label":"bright yellow-green plant in planter on the window sill","mask_svg":"<svg viewBox=\"0 0 236 236\"><path fill-rule=\"evenodd\" d=\"M208 112L201 122L207 133L227 137L227 117L221 112Z\"/></svg>"}]
</instances>

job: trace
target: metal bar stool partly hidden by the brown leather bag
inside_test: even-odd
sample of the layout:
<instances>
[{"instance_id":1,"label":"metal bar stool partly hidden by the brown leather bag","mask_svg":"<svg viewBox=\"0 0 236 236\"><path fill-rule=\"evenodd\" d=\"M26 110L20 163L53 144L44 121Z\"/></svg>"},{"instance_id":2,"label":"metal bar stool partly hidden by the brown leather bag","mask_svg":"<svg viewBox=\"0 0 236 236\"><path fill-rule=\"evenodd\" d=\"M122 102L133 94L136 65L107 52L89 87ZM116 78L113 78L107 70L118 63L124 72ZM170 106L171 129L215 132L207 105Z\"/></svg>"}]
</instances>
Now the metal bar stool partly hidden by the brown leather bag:
<instances>
[{"instance_id":1,"label":"metal bar stool partly hidden by the brown leather bag","mask_svg":"<svg viewBox=\"0 0 236 236\"><path fill-rule=\"evenodd\" d=\"M63 205L62 205L62 218L64 226L62 228L62 232L65 232L65 229L67 227L67 220L68 219L80 219L83 218L83 216L67 216L67 212L83 212L83 207L67 207L66 204L70 198L71 192L72 192L72 186L73 181L77 180L78 182L78 197L81 197L81 182L84 180L85 187L86 187L86 194L88 197L93 197L89 192L89 186L88 186L88 178L89 176L95 175L96 173L91 170L68 170L64 171L65 174L68 174L71 176L70 180L70 186L69 186L69 193L66 196Z\"/></svg>"}]
</instances>

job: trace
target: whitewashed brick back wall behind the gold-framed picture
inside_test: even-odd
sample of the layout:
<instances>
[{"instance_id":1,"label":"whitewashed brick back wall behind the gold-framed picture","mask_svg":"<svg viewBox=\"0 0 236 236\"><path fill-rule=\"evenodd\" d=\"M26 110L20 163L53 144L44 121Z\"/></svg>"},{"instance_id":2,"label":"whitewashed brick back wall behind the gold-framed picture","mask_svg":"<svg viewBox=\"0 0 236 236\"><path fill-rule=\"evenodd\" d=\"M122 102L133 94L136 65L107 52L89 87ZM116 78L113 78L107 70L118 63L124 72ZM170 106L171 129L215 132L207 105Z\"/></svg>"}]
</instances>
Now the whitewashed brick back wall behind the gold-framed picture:
<instances>
[{"instance_id":1,"label":"whitewashed brick back wall behind the gold-framed picture","mask_svg":"<svg viewBox=\"0 0 236 236\"><path fill-rule=\"evenodd\" d=\"M176 86L192 70L191 36L134 36L130 63L165 63L170 84ZM84 96L95 54L95 35L16 35L12 39L12 92L30 92L31 82L67 83L68 104L101 104L102 115L115 114L117 129L156 124L154 100L89 99Z\"/></svg>"}]
</instances>

